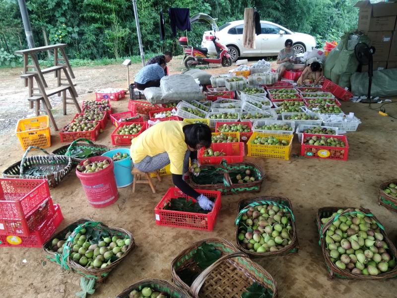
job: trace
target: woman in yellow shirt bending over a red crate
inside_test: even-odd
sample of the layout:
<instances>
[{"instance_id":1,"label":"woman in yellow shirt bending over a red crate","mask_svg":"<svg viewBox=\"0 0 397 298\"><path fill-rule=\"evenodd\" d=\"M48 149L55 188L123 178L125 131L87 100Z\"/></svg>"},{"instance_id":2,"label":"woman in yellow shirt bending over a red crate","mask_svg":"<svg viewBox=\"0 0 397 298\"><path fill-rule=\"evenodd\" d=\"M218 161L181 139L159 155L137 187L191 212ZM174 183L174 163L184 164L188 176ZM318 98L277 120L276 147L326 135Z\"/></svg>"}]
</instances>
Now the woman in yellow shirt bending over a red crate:
<instances>
[{"instance_id":1,"label":"woman in yellow shirt bending over a red crate","mask_svg":"<svg viewBox=\"0 0 397 298\"><path fill-rule=\"evenodd\" d=\"M172 181L186 195L197 199L204 210L212 210L213 202L199 194L183 179L189 171L189 158L197 162L197 150L211 146L211 130L205 124L163 121L132 140L133 166L152 172L170 164Z\"/></svg>"}]
</instances>

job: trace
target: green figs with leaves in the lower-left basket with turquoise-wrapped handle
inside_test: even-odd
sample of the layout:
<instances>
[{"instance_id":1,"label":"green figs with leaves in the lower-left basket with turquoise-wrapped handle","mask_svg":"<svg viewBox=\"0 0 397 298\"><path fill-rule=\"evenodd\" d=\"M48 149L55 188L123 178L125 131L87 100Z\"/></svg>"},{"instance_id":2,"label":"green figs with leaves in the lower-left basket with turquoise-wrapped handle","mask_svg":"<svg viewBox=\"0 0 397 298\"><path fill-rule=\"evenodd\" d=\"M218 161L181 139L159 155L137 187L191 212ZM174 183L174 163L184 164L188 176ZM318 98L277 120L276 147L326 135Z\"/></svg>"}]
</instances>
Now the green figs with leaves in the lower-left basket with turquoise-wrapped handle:
<instances>
[{"instance_id":1,"label":"green figs with leaves in the lower-left basket with turquoise-wrapped handle","mask_svg":"<svg viewBox=\"0 0 397 298\"><path fill-rule=\"evenodd\" d=\"M69 230L64 239L52 239L52 251L60 254L72 234ZM98 231L92 227L81 228L70 243L70 259L87 269L105 268L121 258L131 244L131 239L121 235L111 235L108 231Z\"/></svg>"}]
</instances>

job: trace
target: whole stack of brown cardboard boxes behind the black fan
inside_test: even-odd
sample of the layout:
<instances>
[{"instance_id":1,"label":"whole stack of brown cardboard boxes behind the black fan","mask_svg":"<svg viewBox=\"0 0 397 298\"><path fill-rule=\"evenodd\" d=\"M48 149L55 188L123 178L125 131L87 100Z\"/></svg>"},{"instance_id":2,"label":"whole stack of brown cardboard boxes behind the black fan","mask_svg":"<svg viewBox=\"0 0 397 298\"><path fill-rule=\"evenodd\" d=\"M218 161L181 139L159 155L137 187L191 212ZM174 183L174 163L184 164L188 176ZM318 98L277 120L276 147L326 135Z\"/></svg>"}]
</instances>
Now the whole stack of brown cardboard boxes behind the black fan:
<instances>
[{"instance_id":1,"label":"whole stack of brown cardboard boxes behind the black fan","mask_svg":"<svg viewBox=\"0 0 397 298\"><path fill-rule=\"evenodd\" d=\"M375 47L373 69L396 68L397 65L397 2L358 1L358 30L364 32ZM363 67L363 72L368 69Z\"/></svg>"}]
</instances>

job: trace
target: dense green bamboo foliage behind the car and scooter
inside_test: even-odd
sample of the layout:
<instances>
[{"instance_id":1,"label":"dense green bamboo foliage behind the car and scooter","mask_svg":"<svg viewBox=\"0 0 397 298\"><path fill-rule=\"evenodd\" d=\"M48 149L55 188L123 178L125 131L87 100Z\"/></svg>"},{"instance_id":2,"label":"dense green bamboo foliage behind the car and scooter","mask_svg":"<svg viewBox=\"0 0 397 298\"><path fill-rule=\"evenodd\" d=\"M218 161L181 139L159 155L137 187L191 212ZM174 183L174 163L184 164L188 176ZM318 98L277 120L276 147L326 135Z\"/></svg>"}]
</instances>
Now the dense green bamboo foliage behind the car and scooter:
<instances>
[{"instance_id":1,"label":"dense green bamboo foliage behind the car and scooter","mask_svg":"<svg viewBox=\"0 0 397 298\"><path fill-rule=\"evenodd\" d=\"M139 0L137 9L143 49L159 54L170 50L182 54L178 30L174 37L169 26L168 8L187 7L190 14L202 12L218 18L218 26L243 19L244 8L256 6L261 19L273 21L292 31L311 34L318 46L338 40L356 27L357 0ZM138 56L139 46L131 0L26 0L36 46L67 43L69 59L76 61L120 59ZM163 9L167 39L159 39L159 11ZM16 0L0 0L0 47L8 54L27 48ZM208 25L194 23L189 42L200 45ZM40 59L47 59L46 53ZM5 54L2 54L5 56ZM3 60L5 60L3 58ZM9 59L7 59L8 61ZM16 61L17 62L17 61ZM85 63L85 62L84 62ZM9 62L11 64L11 61ZM2 65L2 64L1 64Z\"/></svg>"}]
</instances>

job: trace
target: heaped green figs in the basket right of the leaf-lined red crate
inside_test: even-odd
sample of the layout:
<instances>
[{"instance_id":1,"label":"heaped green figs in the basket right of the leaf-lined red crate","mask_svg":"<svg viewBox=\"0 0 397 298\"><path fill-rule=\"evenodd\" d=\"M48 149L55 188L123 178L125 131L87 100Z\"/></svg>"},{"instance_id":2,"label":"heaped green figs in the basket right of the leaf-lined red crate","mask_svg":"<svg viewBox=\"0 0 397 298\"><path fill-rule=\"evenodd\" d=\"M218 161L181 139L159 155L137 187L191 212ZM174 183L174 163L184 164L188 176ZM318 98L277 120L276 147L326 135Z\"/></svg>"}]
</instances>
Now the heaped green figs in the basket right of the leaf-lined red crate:
<instances>
[{"instance_id":1,"label":"heaped green figs in the basket right of the leaf-lined red crate","mask_svg":"<svg viewBox=\"0 0 397 298\"><path fill-rule=\"evenodd\" d=\"M275 252L292 243L291 213L278 205L248 208L239 222L240 244L256 252Z\"/></svg>"}]
</instances>

